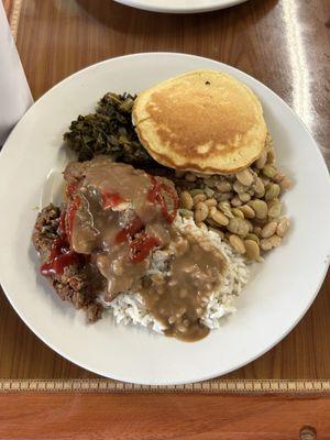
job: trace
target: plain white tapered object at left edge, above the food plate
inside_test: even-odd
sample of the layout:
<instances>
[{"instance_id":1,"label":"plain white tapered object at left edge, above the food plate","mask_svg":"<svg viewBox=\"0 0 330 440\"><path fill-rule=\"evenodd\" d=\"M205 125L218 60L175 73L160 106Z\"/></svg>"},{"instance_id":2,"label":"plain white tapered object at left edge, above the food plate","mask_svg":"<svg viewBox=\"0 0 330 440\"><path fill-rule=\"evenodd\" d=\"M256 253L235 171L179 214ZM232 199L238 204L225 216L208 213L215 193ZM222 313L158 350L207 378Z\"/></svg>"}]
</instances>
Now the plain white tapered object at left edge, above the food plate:
<instances>
[{"instance_id":1,"label":"plain white tapered object at left edge, above the food plate","mask_svg":"<svg viewBox=\"0 0 330 440\"><path fill-rule=\"evenodd\" d=\"M0 146L32 103L33 98L0 1Z\"/></svg>"}]
</instances>

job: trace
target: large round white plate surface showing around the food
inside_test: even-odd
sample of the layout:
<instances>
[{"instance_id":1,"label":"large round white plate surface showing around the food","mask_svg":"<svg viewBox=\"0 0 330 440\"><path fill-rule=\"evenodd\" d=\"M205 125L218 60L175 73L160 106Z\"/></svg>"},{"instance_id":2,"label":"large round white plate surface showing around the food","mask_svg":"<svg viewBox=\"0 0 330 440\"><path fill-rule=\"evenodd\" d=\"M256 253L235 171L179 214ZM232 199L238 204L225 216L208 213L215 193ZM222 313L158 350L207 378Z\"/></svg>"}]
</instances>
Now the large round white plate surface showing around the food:
<instances>
[{"instance_id":1,"label":"large round white plate surface showing around the food","mask_svg":"<svg viewBox=\"0 0 330 440\"><path fill-rule=\"evenodd\" d=\"M38 274L31 243L41 189L68 161L63 133L107 91L139 92L194 69L234 75L260 97L278 155L294 179L285 196L292 230L256 265L237 314L206 339L184 343L110 318L86 324ZM326 275L330 237L329 175L318 146L272 90L233 67L191 55L148 53L113 58L65 79L22 118L0 155L0 279L24 322L63 356L92 372L140 384L180 384L228 373L270 350L307 311Z\"/></svg>"}]
</instances>

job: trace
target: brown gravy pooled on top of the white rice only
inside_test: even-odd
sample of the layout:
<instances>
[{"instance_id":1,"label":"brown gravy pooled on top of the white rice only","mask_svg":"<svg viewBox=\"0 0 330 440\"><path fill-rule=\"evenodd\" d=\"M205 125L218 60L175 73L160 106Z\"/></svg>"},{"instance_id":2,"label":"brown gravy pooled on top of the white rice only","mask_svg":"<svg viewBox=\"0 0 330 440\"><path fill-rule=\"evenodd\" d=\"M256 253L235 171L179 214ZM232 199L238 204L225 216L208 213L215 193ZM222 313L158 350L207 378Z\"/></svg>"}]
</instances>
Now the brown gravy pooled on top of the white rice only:
<instances>
[{"instance_id":1,"label":"brown gravy pooled on top of the white rice only","mask_svg":"<svg viewBox=\"0 0 330 440\"><path fill-rule=\"evenodd\" d=\"M150 314L166 328L165 334L196 341L209 333L200 320L220 284L224 260L190 234L178 235L172 248L170 275L153 279L142 297Z\"/></svg>"}]
</instances>

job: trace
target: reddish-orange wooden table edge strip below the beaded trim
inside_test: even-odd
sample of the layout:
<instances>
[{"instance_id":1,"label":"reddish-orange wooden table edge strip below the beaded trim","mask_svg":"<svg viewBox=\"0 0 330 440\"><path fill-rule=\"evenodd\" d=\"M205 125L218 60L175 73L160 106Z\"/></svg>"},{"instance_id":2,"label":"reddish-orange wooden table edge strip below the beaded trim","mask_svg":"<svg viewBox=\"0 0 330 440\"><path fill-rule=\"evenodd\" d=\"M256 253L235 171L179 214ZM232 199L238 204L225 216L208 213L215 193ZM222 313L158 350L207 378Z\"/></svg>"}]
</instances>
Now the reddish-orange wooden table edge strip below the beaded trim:
<instances>
[{"instance_id":1,"label":"reddish-orange wooden table edge strip below the beaded trim","mask_svg":"<svg viewBox=\"0 0 330 440\"><path fill-rule=\"evenodd\" d=\"M330 439L330 397L0 396L1 439ZM309 428L308 428L309 427ZM299 436L299 433L301 435Z\"/></svg>"}]
</instances>

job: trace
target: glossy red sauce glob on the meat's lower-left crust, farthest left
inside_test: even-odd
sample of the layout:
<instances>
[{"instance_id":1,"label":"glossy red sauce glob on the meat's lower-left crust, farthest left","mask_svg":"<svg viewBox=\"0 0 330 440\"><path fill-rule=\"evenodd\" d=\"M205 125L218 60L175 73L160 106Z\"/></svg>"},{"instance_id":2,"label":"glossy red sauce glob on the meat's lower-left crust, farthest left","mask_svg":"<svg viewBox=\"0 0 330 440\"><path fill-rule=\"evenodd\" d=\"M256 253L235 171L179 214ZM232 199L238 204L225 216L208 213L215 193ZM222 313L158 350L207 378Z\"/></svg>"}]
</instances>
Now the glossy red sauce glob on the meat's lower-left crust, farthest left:
<instances>
[{"instance_id":1,"label":"glossy red sauce glob on the meat's lower-left crust, farthest left","mask_svg":"<svg viewBox=\"0 0 330 440\"><path fill-rule=\"evenodd\" d=\"M70 251L66 238L59 237L53 241L48 262L40 270L44 276L62 275L66 266L77 263L80 258L81 255Z\"/></svg>"}]
</instances>

